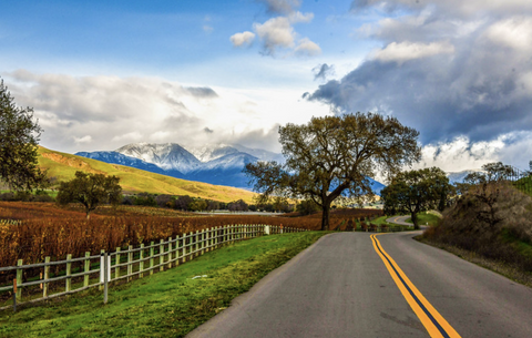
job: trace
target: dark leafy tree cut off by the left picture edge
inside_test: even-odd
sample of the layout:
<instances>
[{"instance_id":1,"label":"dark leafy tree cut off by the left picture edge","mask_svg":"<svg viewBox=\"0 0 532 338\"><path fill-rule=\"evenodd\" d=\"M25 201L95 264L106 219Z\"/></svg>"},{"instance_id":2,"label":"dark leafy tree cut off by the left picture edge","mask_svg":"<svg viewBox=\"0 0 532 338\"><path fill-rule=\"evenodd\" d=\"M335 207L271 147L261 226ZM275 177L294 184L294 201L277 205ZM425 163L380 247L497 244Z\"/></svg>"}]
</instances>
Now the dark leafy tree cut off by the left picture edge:
<instances>
[{"instance_id":1,"label":"dark leafy tree cut off by the left picture edge","mask_svg":"<svg viewBox=\"0 0 532 338\"><path fill-rule=\"evenodd\" d=\"M17 106L0 80L0 178L14 191L32 191L45 182L37 152L41 131L33 109Z\"/></svg>"}]
</instances>

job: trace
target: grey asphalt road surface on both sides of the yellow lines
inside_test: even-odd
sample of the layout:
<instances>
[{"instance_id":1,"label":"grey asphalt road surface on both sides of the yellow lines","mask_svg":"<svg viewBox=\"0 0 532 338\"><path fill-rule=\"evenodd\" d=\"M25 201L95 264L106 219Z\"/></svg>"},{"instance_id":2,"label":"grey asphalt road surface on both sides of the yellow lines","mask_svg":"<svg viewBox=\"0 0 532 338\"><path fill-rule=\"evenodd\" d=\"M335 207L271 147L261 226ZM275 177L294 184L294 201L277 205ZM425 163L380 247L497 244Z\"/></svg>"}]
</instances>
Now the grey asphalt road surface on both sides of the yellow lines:
<instances>
[{"instance_id":1,"label":"grey asphalt road surface on both sides of the yellow lines","mask_svg":"<svg viewBox=\"0 0 532 338\"><path fill-rule=\"evenodd\" d=\"M405 277L462 337L532 337L532 289L418 243L379 235ZM190 337L429 337L369 233L323 237ZM452 336L451 336L452 337Z\"/></svg>"}]
</instances>

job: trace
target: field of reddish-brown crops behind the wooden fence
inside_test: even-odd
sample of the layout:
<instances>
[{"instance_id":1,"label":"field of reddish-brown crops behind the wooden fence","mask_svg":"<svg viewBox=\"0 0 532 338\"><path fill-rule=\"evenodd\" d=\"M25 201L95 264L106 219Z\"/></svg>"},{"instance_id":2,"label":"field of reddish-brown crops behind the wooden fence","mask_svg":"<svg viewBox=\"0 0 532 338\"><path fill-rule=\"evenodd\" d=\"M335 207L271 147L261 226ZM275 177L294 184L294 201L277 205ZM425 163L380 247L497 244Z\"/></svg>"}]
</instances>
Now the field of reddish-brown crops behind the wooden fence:
<instances>
[{"instance_id":1,"label":"field of reddish-brown crops behind the wooden fence","mask_svg":"<svg viewBox=\"0 0 532 338\"><path fill-rule=\"evenodd\" d=\"M331 214L331 228L344 227L348 218L380 215L375 209L342 209ZM137 246L188 232L235 224L284 225L319 229L321 215L270 217L258 215L207 215L152 207L102 208L85 219L81 208L60 208L54 204L0 202L0 266L41 263L45 256L64 259L85 252L114 250ZM6 222L9 221L9 222Z\"/></svg>"}]
</instances>

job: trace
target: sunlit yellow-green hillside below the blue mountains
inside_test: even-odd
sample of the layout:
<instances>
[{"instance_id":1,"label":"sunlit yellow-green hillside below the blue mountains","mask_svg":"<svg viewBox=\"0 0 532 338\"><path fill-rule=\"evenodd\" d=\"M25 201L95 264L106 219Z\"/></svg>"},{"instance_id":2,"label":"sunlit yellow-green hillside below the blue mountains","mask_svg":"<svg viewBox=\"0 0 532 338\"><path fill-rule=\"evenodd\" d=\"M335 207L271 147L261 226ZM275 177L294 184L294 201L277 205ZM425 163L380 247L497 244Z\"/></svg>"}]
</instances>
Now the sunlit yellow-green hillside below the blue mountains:
<instances>
[{"instance_id":1,"label":"sunlit yellow-green hillside below the blue mountains","mask_svg":"<svg viewBox=\"0 0 532 338\"><path fill-rule=\"evenodd\" d=\"M120 185L122 185L124 192L130 193L149 192L152 194L190 195L191 197L221 202L232 202L242 198L247 203L250 203L255 195L252 192L235 187L174 178L129 166L60 153L41 146L39 147L39 165L41 168L48 170L49 177L55 176L59 181L73 178L76 171L115 175L120 177Z\"/></svg>"}]
</instances>

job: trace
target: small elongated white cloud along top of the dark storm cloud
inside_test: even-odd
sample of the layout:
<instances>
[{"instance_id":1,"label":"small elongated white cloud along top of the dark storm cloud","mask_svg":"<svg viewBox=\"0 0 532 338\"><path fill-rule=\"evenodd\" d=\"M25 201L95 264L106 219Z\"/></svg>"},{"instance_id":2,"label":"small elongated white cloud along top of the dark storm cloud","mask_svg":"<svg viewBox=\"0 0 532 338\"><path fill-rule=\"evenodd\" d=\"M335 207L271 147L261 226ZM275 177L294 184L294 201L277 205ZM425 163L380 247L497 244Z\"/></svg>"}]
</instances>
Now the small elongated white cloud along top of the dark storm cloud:
<instances>
[{"instance_id":1,"label":"small elongated white cloud along top of the dark storm cloud","mask_svg":"<svg viewBox=\"0 0 532 338\"><path fill-rule=\"evenodd\" d=\"M374 58L382 62L397 62L399 64L421 58L438 54L452 54L454 47L448 41L419 43L419 42L392 42L385 49L375 52Z\"/></svg>"}]
</instances>

